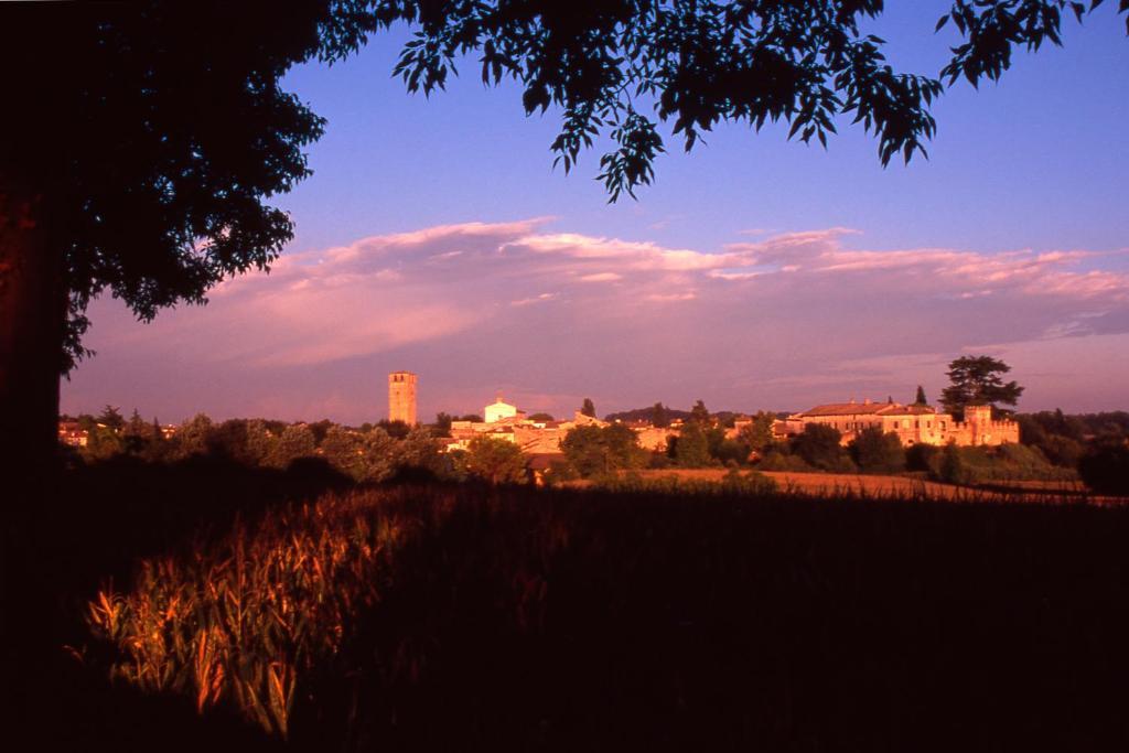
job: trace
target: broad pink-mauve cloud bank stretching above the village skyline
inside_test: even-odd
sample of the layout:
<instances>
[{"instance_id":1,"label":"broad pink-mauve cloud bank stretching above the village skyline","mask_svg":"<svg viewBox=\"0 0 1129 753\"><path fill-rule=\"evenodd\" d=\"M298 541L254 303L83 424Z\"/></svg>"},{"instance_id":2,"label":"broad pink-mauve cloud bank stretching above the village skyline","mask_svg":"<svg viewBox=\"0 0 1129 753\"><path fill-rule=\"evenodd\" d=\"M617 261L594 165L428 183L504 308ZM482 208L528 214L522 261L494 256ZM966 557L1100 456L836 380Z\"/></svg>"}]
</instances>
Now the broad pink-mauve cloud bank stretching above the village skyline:
<instances>
[{"instance_id":1,"label":"broad pink-mauve cloud bank stretching above the village skyline","mask_svg":"<svg viewBox=\"0 0 1129 753\"><path fill-rule=\"evenodd\" d=\"M128 353L134 383L222 399L235 414L263 405L287 418L279 406L292 405L379 418L383 374L395 368L421 374L423 411L479 410L444 395L485 400L499 384L544 400L588 394L605 410L698 397L797 408L937 387L953 354L994 343L1045 343L1023 351L1035 362L1129 334L1122 252L870 251L849 228L716 251L552 221L444 225L286 254L270 274L229 280L209 306L148 326L98 301L89 344L100 354L69 400L113 402L105 391L124 368L114 359ZM1095 376L1089 388L1109 395L1113 382ZM374 413L356 415L366 401Z\"/></svg>"}]
</instances>

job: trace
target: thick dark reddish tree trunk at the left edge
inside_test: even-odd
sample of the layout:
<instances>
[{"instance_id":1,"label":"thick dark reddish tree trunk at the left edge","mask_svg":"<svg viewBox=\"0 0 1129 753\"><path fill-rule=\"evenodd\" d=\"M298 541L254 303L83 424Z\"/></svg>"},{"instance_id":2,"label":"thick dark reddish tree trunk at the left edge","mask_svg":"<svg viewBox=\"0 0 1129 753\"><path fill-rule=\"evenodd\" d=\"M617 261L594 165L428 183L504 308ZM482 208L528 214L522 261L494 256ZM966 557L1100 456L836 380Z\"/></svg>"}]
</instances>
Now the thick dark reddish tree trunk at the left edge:
<instances>
[{"instance_id":1,"label":"thick dark reddish tree trunk at the left edge","mask_svg":"<svg viewBox=\"0 0 1129 753\"><path fill-rule=\"evenodd\" d=\"M51 226L44 193L0 173L0 458L14 470L9 483L36 485L58 458L68 294Z\"/></svg>"}]
</instances>

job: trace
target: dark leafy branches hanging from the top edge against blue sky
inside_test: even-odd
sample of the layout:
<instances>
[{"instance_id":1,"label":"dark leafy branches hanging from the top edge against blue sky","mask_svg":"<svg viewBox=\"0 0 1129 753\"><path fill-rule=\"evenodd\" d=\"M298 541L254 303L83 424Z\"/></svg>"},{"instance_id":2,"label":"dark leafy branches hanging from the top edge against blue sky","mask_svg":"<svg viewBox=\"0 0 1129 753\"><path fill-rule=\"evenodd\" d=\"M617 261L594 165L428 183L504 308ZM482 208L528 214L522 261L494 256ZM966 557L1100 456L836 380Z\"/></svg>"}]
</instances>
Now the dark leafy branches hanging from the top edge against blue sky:
<instances>
[{"instance_id":1,"label":"dark leafy branches hanging from the top edge against blue sky","mask_svg":"<svg viewBox=\"0 0 1129 753\"><path fill-rule=\"evenodd\" d=\"M846 116L877 138L883 165L925 155L936 130L929 106L942 80L895 71L885 41L860 28L883 0L379 5L420 25L396 65L410 90L441 89L456 59L475 55L484 84L520 84L526 113L560 108L551 148L566 170L609 137L598 178L611 201L653 181L666 149L659 122L690 151L720 122L759 131L784 121L789 139L826 146ZM1061 44L1067 9L1079 20L1086 10L1069 0L956 0L937 29L953 20L965 41L942 78L998 79L1013 47Z\"/></svg>"}]
</instances>

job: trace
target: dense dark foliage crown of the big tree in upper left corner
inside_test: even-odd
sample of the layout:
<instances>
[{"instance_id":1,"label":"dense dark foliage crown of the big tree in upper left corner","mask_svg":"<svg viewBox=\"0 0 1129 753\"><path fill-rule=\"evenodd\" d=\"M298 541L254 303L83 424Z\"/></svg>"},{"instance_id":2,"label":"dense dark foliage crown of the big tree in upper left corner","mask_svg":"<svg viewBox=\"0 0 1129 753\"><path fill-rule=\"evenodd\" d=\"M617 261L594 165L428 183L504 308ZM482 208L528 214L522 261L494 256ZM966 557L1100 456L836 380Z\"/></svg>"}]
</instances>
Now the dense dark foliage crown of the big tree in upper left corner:
<instances>
[{"instance_id":1,"label":"dense dark foliage crown of the big tree in upper left corner","mask_svg":"<svg viewBox=\"0 0 1129 753\"><path fill-rule=\"evenodd\" d=\"M5 68L23 71L7 91L23 114L0 124L0 177L32 177L47 194L65 254L65 370L82 352L86 305L104 288L150 319L270 264L292 224L264 200L309 174L303 148L324 128L280 79L295 63L357 50L377 18L351 0L287 12L259 2L29 5L6 8L0 23ZM61 58L52 64L43 50Z\"/></svg>"}]
</instances>

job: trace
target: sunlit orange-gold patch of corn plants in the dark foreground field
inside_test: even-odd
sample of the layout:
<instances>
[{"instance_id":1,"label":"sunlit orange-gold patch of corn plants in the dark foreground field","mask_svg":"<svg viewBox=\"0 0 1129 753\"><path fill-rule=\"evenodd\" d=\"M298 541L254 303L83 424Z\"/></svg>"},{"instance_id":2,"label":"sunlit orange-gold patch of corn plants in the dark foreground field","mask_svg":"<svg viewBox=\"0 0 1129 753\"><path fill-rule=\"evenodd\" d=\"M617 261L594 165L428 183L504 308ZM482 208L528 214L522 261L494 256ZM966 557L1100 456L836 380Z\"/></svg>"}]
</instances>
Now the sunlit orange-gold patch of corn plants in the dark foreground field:
<instances>
[{"instance_id":1,"label":"sunlit orange-gold patch of corn plants in the dark foreground field","mask_svg":"<svg viewBox=\"0 0 1129 753\"><path fill-rule=\"evenodd\" d=\"M121 650L111 675L148 691L221 701L288 734L299 677L338 655L356 616L380 597L410 524L378 498L331 496L243 524L189 560L146 560L134 587L89 605L96 637Z\"/></svg>"}]
</instances>

